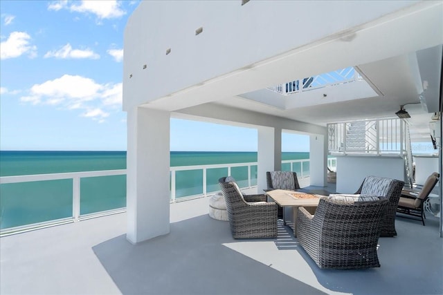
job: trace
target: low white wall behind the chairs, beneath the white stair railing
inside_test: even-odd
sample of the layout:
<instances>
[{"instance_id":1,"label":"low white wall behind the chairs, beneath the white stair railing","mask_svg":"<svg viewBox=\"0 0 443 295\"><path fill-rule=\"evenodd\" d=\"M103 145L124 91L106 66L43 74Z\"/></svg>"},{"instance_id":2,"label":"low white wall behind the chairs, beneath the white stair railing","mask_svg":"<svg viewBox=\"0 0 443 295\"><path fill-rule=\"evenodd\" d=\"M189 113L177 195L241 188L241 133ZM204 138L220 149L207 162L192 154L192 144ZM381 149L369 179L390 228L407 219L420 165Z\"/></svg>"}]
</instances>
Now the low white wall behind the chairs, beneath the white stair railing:
<instances>
[{"instance_id":1,"label":"low white wall behind the chairs, beneath the white stair railing","mask_svg":"<svg viewBox=\"0 0 443 295\"><path fill-rule=\"evenodd\" d=\"M370 175L404 180L404 159L399 156L337 156L337 192L355 193Z\"/></svg>"}]
</instances>

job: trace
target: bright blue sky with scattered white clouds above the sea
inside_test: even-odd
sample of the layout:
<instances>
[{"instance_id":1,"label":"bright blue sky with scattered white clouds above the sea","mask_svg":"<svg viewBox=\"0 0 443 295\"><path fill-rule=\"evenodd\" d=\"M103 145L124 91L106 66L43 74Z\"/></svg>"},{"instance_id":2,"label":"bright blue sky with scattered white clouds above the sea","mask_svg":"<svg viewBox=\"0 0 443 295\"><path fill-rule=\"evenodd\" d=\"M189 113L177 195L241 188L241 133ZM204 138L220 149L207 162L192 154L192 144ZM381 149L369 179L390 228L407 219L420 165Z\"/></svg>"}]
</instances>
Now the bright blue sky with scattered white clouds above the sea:
<instances>
[{"instance_id":1,"label":"bright blue sky with scattered white clouds above the sea","mask_svg":"<svg viewBox=\"0 0 443 295\"><path fill-rule=\"evenodd\" d=\"M123 33L138 3L0 1L1 150L126 150ZM257 131L172 119L171 150L257 151ZM282 150L309 151L309 137L283 135Z\"/></svg>"}]
</instances>

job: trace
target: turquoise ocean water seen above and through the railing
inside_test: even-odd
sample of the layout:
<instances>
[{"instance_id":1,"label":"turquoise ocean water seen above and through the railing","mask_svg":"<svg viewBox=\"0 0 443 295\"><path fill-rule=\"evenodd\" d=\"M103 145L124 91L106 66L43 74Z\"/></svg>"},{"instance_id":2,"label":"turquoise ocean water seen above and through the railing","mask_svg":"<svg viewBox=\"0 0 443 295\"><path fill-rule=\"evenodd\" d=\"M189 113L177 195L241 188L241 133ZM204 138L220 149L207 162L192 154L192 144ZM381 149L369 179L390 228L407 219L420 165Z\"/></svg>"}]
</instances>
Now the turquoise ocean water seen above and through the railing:
<instances>
[{"instance_id":1,"label":"turquoise ocean water seen above and through the railing","mask_svg":"<svg viewBox=\"0 0 443 295\"><path fill-rule=\"evenodd\" d=\"M282 160L309 159L309 153L282 153ZM257 162L256 152L172 151L171 166ZM0 151L0 176L126 169L125 151ZM282 164L289 171L290 164ZM300 163L293 170L301 173ZM309 173L309 165L303 166ZM208 169L207 191L218 191L217 181L227 168ZM248 186L248 167L231 169L240 187ZM203 170L176 172L176 198L203 193ZM257 183L257 166L251 166L251 184ZM51 180L0 185L0 229L70 218L72 180ZM80 215L126 206L126 175L80 180Z\"/></svg>"}]
</instances>

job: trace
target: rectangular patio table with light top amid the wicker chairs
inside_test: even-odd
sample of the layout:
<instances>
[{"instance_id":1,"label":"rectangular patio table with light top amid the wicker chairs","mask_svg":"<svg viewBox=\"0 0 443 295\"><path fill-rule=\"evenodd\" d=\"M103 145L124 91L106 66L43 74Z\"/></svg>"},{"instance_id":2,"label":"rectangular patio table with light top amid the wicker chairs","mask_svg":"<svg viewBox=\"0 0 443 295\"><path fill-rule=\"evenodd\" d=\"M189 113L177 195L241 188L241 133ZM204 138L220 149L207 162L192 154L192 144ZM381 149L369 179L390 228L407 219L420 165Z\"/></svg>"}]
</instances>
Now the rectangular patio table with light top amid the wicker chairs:
<instances>
[{"instance_id":1,"label":"rectangular patio table with light top amid the wicker chairs","mask_svg":"<svg viewBox=\"0 0 443 295\"><path fill-rule=\"evenodd\" d=\"M284 189L274 189L272 191L266 191L266 195L274 200L280 207L283 208L283 223L284 225L289 225L293 230L293 236L297 236L297 215L298 207L305 207L305 209L314 214L320 198L323 195L318 195L315 193L306 193L304 191L287 191ZM287 220L284 213L285 209L292 211L292 219Z\"/></svg>"}]
</instances>

